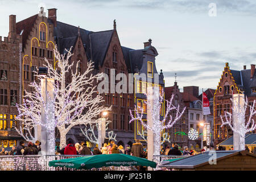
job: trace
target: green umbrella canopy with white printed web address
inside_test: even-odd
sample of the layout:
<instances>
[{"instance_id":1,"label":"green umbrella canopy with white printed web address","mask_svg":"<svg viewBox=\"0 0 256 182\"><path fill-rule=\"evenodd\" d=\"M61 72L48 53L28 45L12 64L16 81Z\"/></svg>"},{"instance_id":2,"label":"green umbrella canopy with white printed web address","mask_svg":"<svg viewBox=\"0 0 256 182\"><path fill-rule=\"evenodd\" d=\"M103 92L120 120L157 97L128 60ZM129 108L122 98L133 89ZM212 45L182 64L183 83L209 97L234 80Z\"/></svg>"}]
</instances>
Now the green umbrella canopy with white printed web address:
<instances>
[{"instance_id":1,"label":"green umbrella canopy with white printed web address","mask_svg":"<svg viewBox=\"0 0 256 182\"><path fill-rule=\"evenodd\" d=\"M49 166L69 167L76 169L91 169L104 166L150 166L155 168L156 163L147 159L126 154L101 154L84 156L80 158L52 160L49 162Z\"/></svg>"}]
</instances>

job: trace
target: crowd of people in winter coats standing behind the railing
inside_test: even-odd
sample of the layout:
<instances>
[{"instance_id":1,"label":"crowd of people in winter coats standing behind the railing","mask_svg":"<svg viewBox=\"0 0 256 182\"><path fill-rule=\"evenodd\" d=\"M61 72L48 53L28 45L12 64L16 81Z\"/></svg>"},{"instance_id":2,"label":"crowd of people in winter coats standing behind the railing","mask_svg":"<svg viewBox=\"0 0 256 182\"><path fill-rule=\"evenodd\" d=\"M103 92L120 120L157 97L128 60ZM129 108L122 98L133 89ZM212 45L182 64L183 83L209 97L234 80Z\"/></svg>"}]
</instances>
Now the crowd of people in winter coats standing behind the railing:
<instances>
[{"instance_id":1,"label":"crowd of people in winter coats standing behind the railing","mask_svg":"<svg viewBox=\"0 0 256 182\"><path fill-rule=\"evenodd\" d=\"M0 155L40 155L41 154L41 143L37 140L35 143L28 142L27 146L23 141L19 142L18 147L12 147L10 151L5 151L5 148L0 149ZM172 146L162 147L160 155L196 155L206 150L209 150L207 147L204 147L201 151L196 151L194 148L189 148L187 146L183 147L183 151L180 150L181 147L177 143L172 143ZM210 150L226 150L224 146L217 146L216 148L211 147ZM229 150L233 150L229 148ZM256 154L256 147L253 151L250 151L247 146L245 150ZM147 147L142 146L142 143L139 140L136 140L132 146L126 144L125 147L122 145L115 144L114 140L110 143L104 143L103 147L98 148L97 146L93 149L86 145L86 142L73 143L72 140L67 142L67 145L60 148L59 146L55 147L56 155L100 155L100 154L126 154L133 155L139 158L147 158Z\"/></svg>"}]
</instances>

